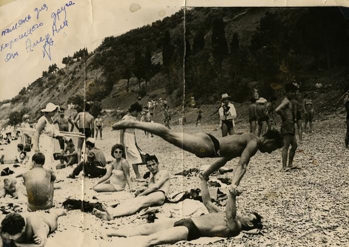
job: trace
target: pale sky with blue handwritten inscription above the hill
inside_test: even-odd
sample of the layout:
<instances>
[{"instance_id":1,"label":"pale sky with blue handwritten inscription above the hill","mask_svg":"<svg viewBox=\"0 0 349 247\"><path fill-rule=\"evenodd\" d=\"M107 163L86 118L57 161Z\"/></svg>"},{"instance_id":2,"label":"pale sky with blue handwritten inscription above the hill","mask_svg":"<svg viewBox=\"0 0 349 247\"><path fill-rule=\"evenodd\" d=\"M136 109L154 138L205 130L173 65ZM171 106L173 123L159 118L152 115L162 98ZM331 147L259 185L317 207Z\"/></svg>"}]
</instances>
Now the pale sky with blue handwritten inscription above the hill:
<instances>
[{"instance_id":1,"label":"pale sky with blue handwritten inscription above the hill","mask_svg":"<svg viewBox=\"0 0 349 247\"><path fill-rule=\"evenodd\" d=\"M0 7L0 101L11 99L42 71L107 36L163 19L179 11L173 0L17 0ZM14 14L15 13L15 14ZM47 36L48 35L48 36Z\"/></svg>"}]
</instances>

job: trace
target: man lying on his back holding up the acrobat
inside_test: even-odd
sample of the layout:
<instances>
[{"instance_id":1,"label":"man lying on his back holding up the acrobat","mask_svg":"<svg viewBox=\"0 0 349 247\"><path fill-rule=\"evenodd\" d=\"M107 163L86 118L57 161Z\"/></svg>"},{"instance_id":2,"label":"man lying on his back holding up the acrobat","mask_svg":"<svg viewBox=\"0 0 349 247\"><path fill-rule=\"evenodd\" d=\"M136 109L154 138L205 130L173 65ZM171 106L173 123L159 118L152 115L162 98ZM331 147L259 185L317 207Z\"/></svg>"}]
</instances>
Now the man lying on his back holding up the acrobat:
<instances>
[{"instance_id":1,"label":"man lying on his back holding up the acrobat","mask_svg":"<svg viewBox=\"0 0 349 247\"><path fill-rule=\"evenodd\" d=\"M228 201L225 212L221 211L211 202L206 179L200 174L202 201L209 214L182 220L166 219L146 226L123 227L110 232L101 231L101 237L133 237L130 243L140 246L157 246L174 244L178 241L191 241L200 237L224 237L237 236L241 231L262 229L261 216L257 213L245 216L236 215L236 196L241 191L232 185L229 189ZM136 237L137 236L137 237Z\"/></svg>"}]
</instances>

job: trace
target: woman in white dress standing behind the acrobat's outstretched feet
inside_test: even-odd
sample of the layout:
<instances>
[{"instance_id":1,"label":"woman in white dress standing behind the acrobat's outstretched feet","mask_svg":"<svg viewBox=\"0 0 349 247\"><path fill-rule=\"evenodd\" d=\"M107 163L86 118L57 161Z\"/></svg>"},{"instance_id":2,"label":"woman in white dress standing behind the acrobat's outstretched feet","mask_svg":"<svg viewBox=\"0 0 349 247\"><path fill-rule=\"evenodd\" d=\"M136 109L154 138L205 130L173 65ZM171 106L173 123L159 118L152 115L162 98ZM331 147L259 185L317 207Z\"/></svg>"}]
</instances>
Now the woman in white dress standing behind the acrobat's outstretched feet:
<instances>
[{"instance_id":1,"label":"woman in white dress standing behind the acrobat's outstretched feet","mask_svg":"<svg viewBox=\"0 0 349 247\"><path fill-rule=\"evenodd\" d=\"M136 102L130 106L129 112L122 118L122 120L136 120L140 112L142 112L142 106ZM144 181L138 170L138 165L142 164L142 158L136 146L135 129L127 128L120 130L120 143L125 146L126 160L129 164L132 164L136 174L136 180Z\"/></svg>"}]
</instances>

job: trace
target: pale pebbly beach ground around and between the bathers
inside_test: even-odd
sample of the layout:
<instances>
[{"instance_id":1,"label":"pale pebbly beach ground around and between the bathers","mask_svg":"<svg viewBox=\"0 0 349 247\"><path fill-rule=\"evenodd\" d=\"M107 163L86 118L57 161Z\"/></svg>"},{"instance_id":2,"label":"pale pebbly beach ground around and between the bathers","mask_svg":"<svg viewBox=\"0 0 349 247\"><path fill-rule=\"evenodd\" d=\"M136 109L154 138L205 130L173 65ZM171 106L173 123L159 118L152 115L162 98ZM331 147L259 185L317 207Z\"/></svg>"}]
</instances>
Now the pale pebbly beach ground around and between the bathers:
<instances>
[{"instance_id":1,"label":"pale pebbly beach ground around and between the bathers","mask_svg":"<svg viewBox=\"0 0 349 247\"><path fill-rule=\"evenodd\" d=\"M251 159L240 183L244 193L237 199L237 211L238 214L249 211L261 214L264 217L264 236L243 235L240 239L226 239L207 246L347 246L349 151L344 149L344 126L342 119L332 119L317 122L315 133L305 133L306 142L299 144L294 160L294 164L301 168L299 170L279 172L281 150L272 154L258 152ZM207 132L217 137L221 136L220 131L214 131L214 128L212 124L198 127L190 124L184 126L184 131ZM239 128L239 131L247 131L247 125L241 125ZM174 126L174 130L182 129ZM119 131L105 128L103 136L105 139L98 139L96 146L105 152L107 160L112 160L110 149L118 142ZM167 169L172 174L213 161L210 158L197 158L158 136L147 138L143 131L136 130L136 136L139 146L145 152L156 154L161 169ZM15 149L16 144L17 142L13 141L10 145L2 145L0 148L4 150L0 152L8 153L9 150ZM238 159L234 159L228 162L226 167L234 168L237 162ZM2 167L5 166L0 165L0 168ZM71 171L72 168L55 171L56 184L61 187L54 192L56 208L61 207L61 203L67 198L99 201L103 205L111 205L131 197L128 192L95 193L92 187L98 179L83 179L82 174L77 179L66 178ZM140 167L141 174L146 171L145 166ZM232 173L219 177L232 177ZM135 187L139 187L133 171L131 178ZM212 175L211 178L215 179L217 175ZM2 183L2 180L0 182ZM170 193L199 186L197 177L174 177ZM92 199L93 196L97 199ZM9 202L25 208L23 202L10 198L0 199L0 206ZM105 222L92 214L78 210L68 211L67 216L58 220L58 230L50 236L50 244L46 246L118 246L116 239L101 240L96 229L118 229L129 224L136 226L146 222L147 220L138 214Z\"/></svg>"}]
</instances>

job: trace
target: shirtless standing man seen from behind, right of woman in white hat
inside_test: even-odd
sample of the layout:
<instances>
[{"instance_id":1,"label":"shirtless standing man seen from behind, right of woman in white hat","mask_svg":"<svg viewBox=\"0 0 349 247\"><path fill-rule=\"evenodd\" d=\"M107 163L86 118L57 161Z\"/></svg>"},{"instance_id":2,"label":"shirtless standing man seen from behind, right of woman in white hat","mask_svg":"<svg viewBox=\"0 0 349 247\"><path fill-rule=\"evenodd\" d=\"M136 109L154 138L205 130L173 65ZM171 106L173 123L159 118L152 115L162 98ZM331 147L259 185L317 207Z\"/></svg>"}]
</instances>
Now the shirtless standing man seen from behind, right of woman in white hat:
<instances>
[{"instance_id":1,"label":"shirtless standing man seen from behind, right of woman in white hat","mask_svg":"<svg viewBox=\"0 0 349 247\"><path fill-rule=\"evenodd\" d=\"M94 133L94 118L93 116L89 113L90 111L90 104L86 103L85 104L85 111L78 113L74 120L75 126L79 129L79 131L83 134L85 134L85 140L89 137L95 136ZM78 124L79 121L79 124ZM82 138L78 138L78 163L80 163L81 160L81 149L82 149L82 144L84 140ZM86 150L85 150L86 151ZM84 152L86 153L86 152Z\"/></svg>"}]
</instances>

